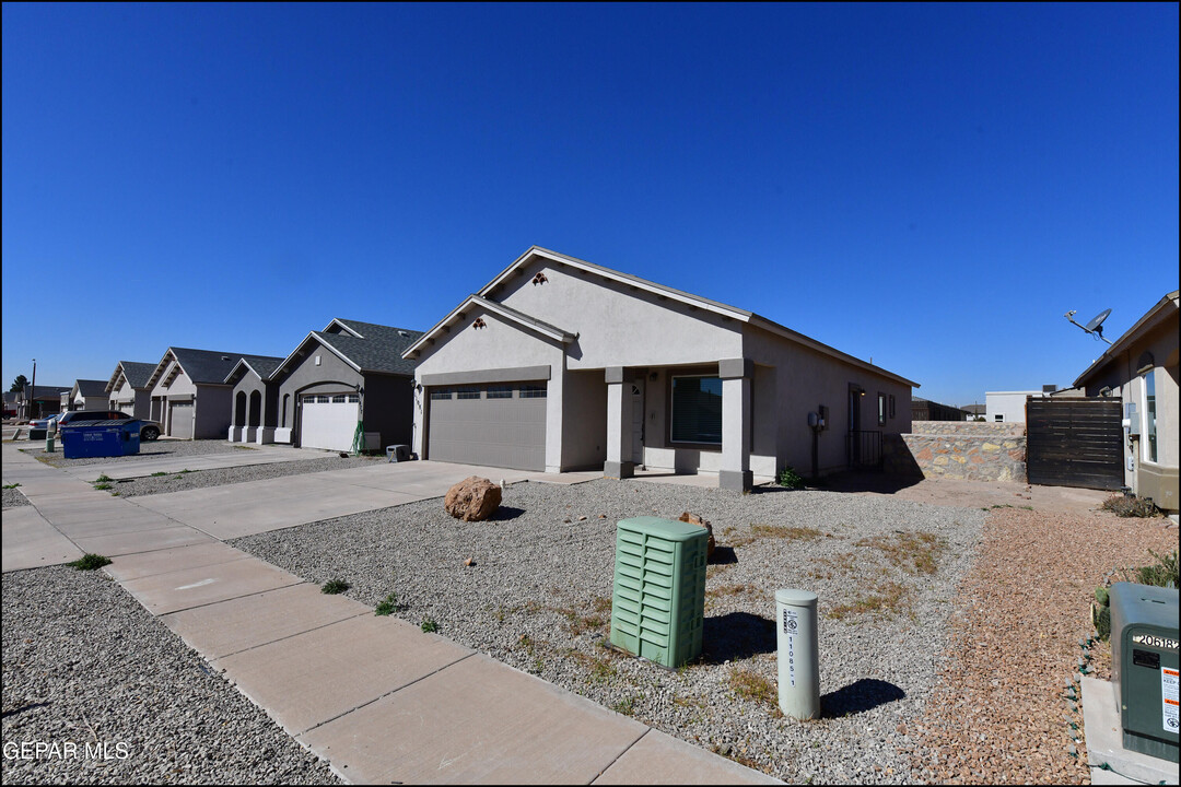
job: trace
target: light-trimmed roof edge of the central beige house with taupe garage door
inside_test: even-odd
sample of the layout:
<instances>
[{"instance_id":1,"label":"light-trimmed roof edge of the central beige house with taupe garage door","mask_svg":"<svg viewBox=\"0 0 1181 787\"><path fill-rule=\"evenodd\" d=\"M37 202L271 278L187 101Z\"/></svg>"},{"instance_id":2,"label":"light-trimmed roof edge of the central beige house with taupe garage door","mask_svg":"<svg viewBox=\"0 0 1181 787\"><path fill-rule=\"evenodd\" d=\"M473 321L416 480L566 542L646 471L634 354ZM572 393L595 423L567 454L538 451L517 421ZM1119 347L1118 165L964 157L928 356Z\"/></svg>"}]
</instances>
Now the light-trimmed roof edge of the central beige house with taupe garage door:
<instances>
[{"instance_id":1,"label":"light-trimmed roof edge of the central beige house with taupe garage door","mask_svg":"<svg viewBox=\"0 0 1181 787\"><path fill-rule=\"evenodd\" d=\"M789 339L796 343L803 345L804 347L822 353L823 355L835 358L837 360L844 361L846 363L849 363L852 366L862 369L867 369L875 374L881 374L885 378L889 378L890 380L901 382L913 388L919 387L919 383L914 382L913 380L907 380L906 378L896 375L893 372L887 372L886 369L879 366L874 366L873 363L862 361L859 358L854 358L852 355L848 355L847 353L842 353L841 350L829 347L828 345L824 345L822 342L818 342L815 339L811 339L801 333L791 330L790 328L781 326L779 323L768 320L766 317L759 316L753 311L746 311L745 309L738 309L732 306L727 306L725 303L719 303L718 301L711 301L699 295L693 295L691 293L684 293L681 290L673 289L672 287L657 284L655 282L650 282L646 278L640 278L639 276L632 276L631 274L612 270L611 268L603 268L602 265L596 265L593 262L587 262L586 260L570 257L565 254L559 254L557 251L550 251L549 249L543 249L537 245L530 247L528 251L517 257L516 261L513 262L513 264L502 270L495 278L492 278L492 281L485 284L478 293L476 293L475 295L470 295L463 303L452 309L451 313L448 314L445 317L443 317L443 320L439 321L433 328L423 334L423 336L418 341L407 347L406 350L403 353L403 356L409 358L411 355L417 354L428 341L431 341L436 339L441 333L445 333L446 330L449 330L451 323L463 319L464 308L466 306L478 304L488 308L490 303L495 303L495 306L500 307L500 309L507 309L508 307L504 307L503 304L492 301L490 299L491 294L497 288L500 288L505 281L510 280L511 276L518 269L523 268L524 265L531 263L534 260L537 258L556 262L559 264L568 265L570 268L575 268L578 270L582 270L586 273L598 274L603 278L615 281L622 284L628 284L631 287L635 287L637 289L645 290L647 293L651 293L660 297L679 301L687 306L692 306L699 309L705 309L706 311L712 311L720 316L729 317L731 320L736 320L742 323L751 324L757 328L762 328L763 330L766 330L777 336L782 336L783 339ZM510 316L509 319L513 319L518 323L527 324L527 327L533 327L526 323L526 321L531 321L533 323L544 326L546 328L557 334L570 335L568 332L561 328L556 328L555 326L549 326L548 323L542 323L520 311L515 310L513 311L515 316Z\"/></svg>"}]
</instances>

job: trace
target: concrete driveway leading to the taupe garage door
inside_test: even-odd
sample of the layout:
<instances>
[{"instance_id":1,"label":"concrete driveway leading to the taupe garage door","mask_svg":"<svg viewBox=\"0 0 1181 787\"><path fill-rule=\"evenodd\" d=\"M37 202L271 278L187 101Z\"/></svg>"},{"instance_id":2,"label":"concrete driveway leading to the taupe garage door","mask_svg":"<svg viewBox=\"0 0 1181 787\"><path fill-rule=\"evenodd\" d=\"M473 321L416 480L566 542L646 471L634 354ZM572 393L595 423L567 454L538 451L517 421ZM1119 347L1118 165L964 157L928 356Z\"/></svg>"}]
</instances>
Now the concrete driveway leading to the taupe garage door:
<instances>
[{"instance_id":1,"label":"concrete driveway leading to the taupe garage door","mask_svg":"<svg viewBox=\"0 0 1181 787\"><path fill-rule=\"evenodd\" d=\"M537 473L442 461L376 463L130 500L214 538L228 539L442 497L469 476L497 484L578 484L602 473Z\"/></svg>"}]
</instances>

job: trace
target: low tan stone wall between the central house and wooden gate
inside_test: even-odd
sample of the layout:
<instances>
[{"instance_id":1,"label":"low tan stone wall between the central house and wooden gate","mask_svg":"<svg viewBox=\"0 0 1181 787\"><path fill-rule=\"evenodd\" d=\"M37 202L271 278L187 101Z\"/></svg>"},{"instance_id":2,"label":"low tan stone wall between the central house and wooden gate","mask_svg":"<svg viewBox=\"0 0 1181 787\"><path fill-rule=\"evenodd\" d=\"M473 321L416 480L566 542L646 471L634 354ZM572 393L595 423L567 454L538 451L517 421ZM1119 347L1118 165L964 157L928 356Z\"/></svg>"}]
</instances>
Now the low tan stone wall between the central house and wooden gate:
<instances>
[{"instance_id":1,"label":"low tan stone wall between the central house and wooden gate","mask_svg":"<svg viewBox=\"0 0 1181 787\"><path fill-rule=\"evenodd\" d=\"M911 434L886 435L886 472L924 478L1026 481L1025 425L914 421Z\"/></svg>"}]
</instances>

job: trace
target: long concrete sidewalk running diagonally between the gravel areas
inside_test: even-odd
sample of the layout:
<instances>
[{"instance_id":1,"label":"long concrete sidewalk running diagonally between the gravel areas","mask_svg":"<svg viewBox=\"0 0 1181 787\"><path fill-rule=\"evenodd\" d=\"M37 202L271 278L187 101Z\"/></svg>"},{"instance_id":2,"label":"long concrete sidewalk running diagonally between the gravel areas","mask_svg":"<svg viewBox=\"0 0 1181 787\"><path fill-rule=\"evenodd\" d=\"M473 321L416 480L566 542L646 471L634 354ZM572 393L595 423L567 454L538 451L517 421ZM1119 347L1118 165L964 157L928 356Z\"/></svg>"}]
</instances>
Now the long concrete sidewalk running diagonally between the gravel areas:
<instances>
[{"instance_id":1,"label":"long concrete sidewalk running diagonally between the gravel areas","mask_svg":"<svg viewBox=\"0 0 1181 787\"><path fill-rule=\"evenodd\" d=\"M15 453L4 446L5 481L21 479L35 513L5 512L5 571L9 553L28 565L67 546L113 557L112 578L347 781L778 783ZM430 497L465 472L425 465L402 492L380 473L313 488ZM272 493L289 490L262 487L256 503L307 504Z\"/></svg>"}]
</instances>

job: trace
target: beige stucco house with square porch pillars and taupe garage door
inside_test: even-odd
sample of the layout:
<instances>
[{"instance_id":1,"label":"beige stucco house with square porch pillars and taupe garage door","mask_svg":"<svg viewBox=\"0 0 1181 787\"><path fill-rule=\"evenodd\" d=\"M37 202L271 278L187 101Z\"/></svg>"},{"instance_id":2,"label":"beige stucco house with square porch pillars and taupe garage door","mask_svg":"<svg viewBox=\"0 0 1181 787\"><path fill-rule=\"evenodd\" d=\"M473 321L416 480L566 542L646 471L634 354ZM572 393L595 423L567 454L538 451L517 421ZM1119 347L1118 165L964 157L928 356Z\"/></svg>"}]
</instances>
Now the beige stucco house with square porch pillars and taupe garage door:
<instances>
[{"instance_id":1,"label":"beige stucco house with square porch pillars and taupe garage door","mask_svg":"<svg viewBox=\"0 0 1181 787\"><path fill-rule=\"evenodd\" d=\"M877 461L883 433L909 431L916 385L757 314L537 247L404 356L418 361L424 459L706 471L726 488L788 465Z\"/></svg>"}]
</instances>

